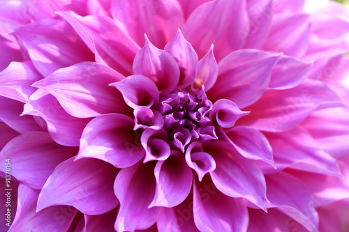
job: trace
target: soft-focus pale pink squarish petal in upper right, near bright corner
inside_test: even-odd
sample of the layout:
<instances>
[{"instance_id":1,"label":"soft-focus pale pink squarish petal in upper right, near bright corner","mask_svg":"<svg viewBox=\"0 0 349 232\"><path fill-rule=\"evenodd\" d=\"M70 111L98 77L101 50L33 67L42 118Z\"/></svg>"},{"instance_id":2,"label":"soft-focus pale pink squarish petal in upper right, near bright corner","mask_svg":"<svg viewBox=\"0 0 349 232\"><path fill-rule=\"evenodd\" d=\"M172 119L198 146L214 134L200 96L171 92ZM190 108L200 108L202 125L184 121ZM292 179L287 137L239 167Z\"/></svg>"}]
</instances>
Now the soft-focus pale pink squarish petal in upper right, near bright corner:
<instances>
[{"instance_id":1,"label":"soft-focus pale pink squarish petal in upper right, near bright corner","mask_svg":"<svg viewBox=\"0 0 349 232\"><path fill-rule=\"evenodd\" d=\"M302 57L308 46L309 33L309 15L274 15L269 36L262 49L283 52L295 58Z\"/></svg>"}]
</instances>

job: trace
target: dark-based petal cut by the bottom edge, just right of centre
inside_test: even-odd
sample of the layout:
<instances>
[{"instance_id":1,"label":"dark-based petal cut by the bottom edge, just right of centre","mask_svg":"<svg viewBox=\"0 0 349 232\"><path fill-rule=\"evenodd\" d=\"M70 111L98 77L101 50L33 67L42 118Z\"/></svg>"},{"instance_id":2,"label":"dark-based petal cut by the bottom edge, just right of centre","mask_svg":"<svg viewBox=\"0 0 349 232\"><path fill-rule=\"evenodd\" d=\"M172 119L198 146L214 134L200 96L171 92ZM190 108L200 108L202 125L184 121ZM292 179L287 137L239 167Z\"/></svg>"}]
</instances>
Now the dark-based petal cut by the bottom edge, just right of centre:
<instances>
[{"instance_id":1,"label":"dark-based petal cut by the bottom edge, just right of centre","mask_svg":"<svg viewBox=\"0 0 349 232\"><path fill-rule=\"evenodd\" d=\"M225 196L216 187L194 182L194 221L200 231L246 231L247 207L242 199Z\"/></svg>"}]
</instances>

